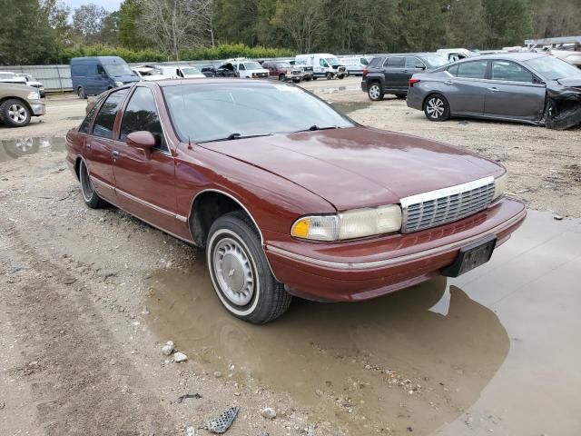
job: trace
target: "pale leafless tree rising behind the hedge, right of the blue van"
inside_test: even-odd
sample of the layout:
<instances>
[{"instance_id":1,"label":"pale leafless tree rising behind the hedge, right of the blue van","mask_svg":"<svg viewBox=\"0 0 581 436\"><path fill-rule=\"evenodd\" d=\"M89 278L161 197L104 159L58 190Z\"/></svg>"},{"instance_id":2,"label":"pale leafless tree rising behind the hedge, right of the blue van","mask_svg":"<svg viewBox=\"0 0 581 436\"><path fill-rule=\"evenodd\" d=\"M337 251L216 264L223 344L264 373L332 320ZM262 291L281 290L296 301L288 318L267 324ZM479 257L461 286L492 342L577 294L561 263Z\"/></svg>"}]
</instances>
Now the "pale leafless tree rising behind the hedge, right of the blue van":
<instances>
[{"instance_id":1,"label":"pale leafless tree rising behind the hedge, right of the blue van","mask_svg":"<svg viewBox=\"0 0 581 436\"><path fill-rule=\"evenodd\" d=\"M178 60L183 48L203 45L209 25L213 39L211 0L143 0L142 7L141 34L172 59Z\"/></svg>"}]
</instances>

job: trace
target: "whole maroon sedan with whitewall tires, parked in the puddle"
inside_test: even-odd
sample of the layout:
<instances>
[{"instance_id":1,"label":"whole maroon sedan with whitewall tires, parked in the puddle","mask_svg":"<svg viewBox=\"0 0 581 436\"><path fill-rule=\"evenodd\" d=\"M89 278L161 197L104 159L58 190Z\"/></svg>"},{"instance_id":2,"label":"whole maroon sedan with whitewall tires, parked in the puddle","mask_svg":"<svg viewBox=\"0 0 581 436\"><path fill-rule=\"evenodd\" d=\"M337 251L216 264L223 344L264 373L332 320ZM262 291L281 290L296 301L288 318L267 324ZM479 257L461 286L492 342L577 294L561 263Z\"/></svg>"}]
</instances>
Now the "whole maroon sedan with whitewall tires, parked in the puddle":
<instances>
[{"instance_id":1,"label":"whole maroon sedan with whitewall tires, parked in the puddle","mask_svg":"<svg viewBox=\"0 0 581 436\"><path fill-rule=\"evenodd\" d=\"M248 322L291 295L359 301L467 272L526 215L497 163L363 127L290 84L116 88L66 144L89 207L205 248L218 297Z\"/></svg>"}]
</instances>

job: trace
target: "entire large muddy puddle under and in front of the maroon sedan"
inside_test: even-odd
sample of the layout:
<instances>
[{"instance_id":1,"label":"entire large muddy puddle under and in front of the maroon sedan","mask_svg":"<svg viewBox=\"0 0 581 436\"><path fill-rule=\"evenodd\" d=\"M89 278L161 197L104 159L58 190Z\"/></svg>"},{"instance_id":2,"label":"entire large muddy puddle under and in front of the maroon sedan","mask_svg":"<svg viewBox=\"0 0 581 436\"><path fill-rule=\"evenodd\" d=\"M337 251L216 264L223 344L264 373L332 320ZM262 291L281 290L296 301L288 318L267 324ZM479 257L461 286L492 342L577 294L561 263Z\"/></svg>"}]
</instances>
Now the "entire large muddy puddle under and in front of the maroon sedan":
<instances>
[{"instance_id":1,"label":"entire large muddy puddle under and in front of the maroon sedan","mask_svg":"<svg viewBox=\"0 0 581 436\"><path fill-rule=\"evenodd\" d=\"M351 434L581 434L579 247L581 220L532 211L458 279L371 302L295 299L265 326L222 309L201 260L149 279L149 319L209 372L287 392Z\"/></svg>"}]
</instances>

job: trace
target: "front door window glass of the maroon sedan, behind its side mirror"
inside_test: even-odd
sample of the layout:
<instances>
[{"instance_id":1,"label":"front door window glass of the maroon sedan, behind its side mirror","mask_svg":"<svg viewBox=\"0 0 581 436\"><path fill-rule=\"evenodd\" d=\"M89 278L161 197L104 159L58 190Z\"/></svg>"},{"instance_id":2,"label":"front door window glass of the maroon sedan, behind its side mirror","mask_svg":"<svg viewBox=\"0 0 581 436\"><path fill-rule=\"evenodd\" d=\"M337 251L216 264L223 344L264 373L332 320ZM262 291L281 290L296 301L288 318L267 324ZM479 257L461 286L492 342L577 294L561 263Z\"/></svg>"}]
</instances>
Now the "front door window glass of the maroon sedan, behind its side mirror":
<instances>
[{"instance_id":1,"label":"front door window glass of the maroon sedan, behind its side mirror","mask_svg":"<svg viewBox=\"0 0 581 436\"><path fill-rule=\"evenodd\" d=\"M138 86L125 107L119 140L124 143L127 141L128 134L142 130L151 132L155 137L156 147L165 149L162 139L162 124L152 90Z\"/></svg>"}]
</instances>

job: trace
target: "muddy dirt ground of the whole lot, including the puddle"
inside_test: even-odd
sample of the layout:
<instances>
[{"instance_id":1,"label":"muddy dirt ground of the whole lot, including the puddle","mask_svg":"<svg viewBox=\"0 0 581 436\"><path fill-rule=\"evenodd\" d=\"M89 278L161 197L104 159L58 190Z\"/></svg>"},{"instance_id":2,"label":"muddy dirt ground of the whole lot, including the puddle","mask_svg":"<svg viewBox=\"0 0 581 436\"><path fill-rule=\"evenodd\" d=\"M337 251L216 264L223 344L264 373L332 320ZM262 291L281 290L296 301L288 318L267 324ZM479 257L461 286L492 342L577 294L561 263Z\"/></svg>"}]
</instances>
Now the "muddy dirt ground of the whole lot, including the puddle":
<instances>
[{"instance_id":1,"label":"muddy dirt ground of the whole lot, including the puddle","mask_svg":"<svg viewBox=\"0 0 581 436\"><path fill-rule=\"evenodd\" d=\"M579 130L430 123L402 101L369 104L358 78L305 87L359 123L497 159L530 207L581 216ZM47 104L28 127L0 127L0 434L210 434L204 422L235 405L227 434L581 432L570 346L581 220L533 212L457 281L373 302L295 300L279 322L252 326L222 310L202 253L84 206L62 137L85 102ZM162 354L170 340L187 362Z\"/></svg>"}]
</instances>

